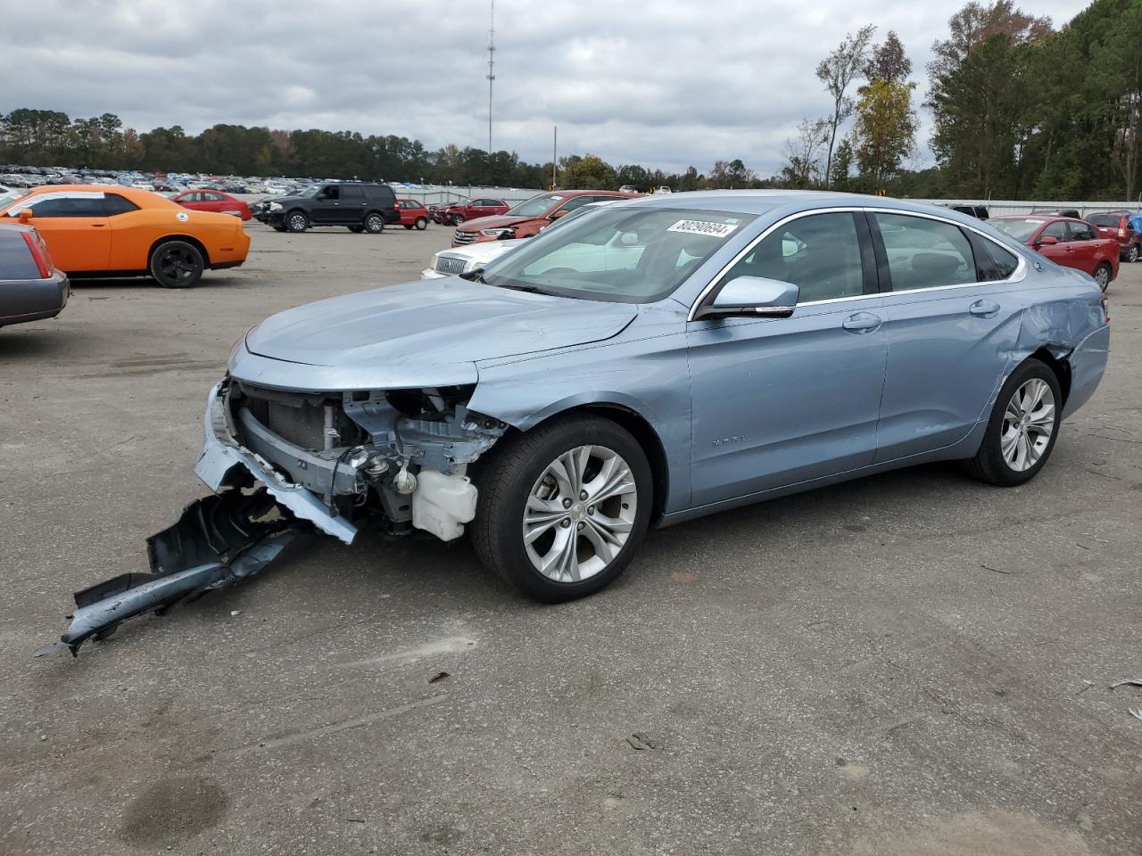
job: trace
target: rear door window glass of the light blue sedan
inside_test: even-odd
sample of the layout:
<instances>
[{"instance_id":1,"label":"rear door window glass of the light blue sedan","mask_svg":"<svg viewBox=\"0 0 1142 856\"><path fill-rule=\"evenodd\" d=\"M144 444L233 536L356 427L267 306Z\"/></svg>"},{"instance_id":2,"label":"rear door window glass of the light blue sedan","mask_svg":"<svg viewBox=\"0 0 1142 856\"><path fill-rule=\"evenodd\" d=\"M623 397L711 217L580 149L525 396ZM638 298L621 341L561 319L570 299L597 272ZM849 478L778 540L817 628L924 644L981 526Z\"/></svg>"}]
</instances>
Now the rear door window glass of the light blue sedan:
<instances>
[{"instance_id":1,"label":"rear door window glass of the light blue sedan","mask_svg":"<svg viewBox=\"0 0 1142 856\"><path fill-rule=\"evenodd\" d=\"M972 244L958 226L908 215L875 217L888 256L893 291L976 281Z\"/></svg>"}]
</instances>

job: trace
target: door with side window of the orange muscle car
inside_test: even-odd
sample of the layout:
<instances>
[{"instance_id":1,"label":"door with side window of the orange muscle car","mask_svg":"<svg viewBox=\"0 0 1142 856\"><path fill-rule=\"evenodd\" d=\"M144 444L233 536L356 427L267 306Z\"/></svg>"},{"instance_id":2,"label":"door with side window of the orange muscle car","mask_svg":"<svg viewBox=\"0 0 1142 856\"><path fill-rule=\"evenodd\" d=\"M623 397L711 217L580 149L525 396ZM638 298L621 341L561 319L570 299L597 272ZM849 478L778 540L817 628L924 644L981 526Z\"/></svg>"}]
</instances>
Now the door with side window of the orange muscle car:
<instances>
[{"instance_id":1,"label":"door with side window of the orange muscle car","mask_svg":"<svg viewBox=\"0 0 1142 856\"><path fill-rule=\"evenodd\" d=\"M10 213L31 209L32 225L48 244L56 267L67 273L106 270L111 231L102 191L61 191L22 200Z\"/></svg>"}]
</instances>

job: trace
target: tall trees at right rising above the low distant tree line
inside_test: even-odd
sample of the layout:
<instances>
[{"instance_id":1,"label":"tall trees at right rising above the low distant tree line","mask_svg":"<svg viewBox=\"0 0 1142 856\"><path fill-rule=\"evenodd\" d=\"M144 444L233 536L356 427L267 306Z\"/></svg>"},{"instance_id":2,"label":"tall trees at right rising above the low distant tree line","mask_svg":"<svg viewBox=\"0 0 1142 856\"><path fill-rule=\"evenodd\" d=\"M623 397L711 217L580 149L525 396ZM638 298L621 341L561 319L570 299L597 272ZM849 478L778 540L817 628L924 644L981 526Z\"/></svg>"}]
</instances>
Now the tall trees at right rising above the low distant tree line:
<instances>
[{"instance_id":1,"label":"tall trees at right rising above the low distant tree line","mask_svg":"<svg viewBox=\"0 0 1142 856\"><path fill-rule=\"evenodd\" d=\"M1094 0L1054 30L1013 0L966 3L927 67L935 167L917 153L911 62L894 32L849 34L817 68L829 115L786 143L788 186L960 199L1142 194L1142 0ZM858 86L859 83L859 86Z\"/></svg>"}]
</instances>

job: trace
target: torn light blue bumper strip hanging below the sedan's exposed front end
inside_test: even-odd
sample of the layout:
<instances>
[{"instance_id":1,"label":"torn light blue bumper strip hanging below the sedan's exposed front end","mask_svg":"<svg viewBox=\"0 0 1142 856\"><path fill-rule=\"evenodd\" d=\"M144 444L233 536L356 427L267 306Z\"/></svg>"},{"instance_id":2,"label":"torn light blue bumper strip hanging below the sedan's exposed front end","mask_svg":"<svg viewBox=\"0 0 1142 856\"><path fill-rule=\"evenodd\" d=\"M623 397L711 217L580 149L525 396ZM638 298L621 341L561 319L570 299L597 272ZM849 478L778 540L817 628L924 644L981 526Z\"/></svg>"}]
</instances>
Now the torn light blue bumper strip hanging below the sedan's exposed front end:
<instances>
[{"instance_id":1,"label":"torn light blue bumper strip hanging below the sedan's exposed front end","mask_svg":"<svg viewBox=\"0 0 1142 856\"><path fill-rule=\"evenodd\" d=\"M289 482L280 475L262 455L239 444L231 434L226 420L223 383L210 390L207 403L204 437L194 474L211 491L218 491L227 483L227 474L234 467L244 467L251 476L266 486L270 494L303 520L309 520L322 532L333 535L345 543L353 543L356 526L341 517L335 517L329 508L311 491Z\"/></svg>"}]
</instances>

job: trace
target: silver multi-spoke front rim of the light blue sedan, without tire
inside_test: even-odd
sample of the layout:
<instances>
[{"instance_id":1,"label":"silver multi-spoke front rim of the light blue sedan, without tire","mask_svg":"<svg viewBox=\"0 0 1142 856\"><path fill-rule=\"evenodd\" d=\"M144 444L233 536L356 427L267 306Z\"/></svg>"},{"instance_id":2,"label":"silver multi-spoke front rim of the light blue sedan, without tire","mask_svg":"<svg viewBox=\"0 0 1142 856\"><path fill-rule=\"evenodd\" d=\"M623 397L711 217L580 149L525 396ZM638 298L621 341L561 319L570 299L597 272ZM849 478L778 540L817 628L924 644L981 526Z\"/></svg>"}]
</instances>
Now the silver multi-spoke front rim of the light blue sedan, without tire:
<instances>
[{"instance_id":1,"label":"silver multi-spoke front rim of the light blue sedan, without tire","mask_svg":"<svg viewBox=\"0 0 1142 856\"><path fill-rule=\"evenodd\" d=\"M595 576L622 550L637 510L630 466L605 446L577 446L548 463L528 494L528 558L555 582Z\"/></svg>"}]
</instances>

